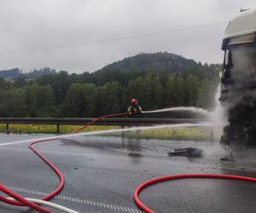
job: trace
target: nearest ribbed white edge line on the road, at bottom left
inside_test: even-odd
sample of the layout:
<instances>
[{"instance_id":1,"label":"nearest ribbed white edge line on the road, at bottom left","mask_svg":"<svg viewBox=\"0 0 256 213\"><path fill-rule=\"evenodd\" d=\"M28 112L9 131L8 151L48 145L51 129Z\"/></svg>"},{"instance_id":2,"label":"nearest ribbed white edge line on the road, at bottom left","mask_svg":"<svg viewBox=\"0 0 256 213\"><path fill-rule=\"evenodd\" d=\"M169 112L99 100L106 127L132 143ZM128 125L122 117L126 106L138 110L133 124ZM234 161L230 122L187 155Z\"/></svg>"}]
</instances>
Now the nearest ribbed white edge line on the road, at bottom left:
<instances>
[{"instance_id":1,"label":"nearest ribbed white edge line on the road, at bottom left","mask_svg":"<svg viewBox=\"0 0 256 213\"><path fill-rule=\"evenodd\" d=\"M11 187L11 186L8 186L8 187L9 187L9 189L14 190L16 193L37 194L37 195L41 195L41 196L46 196L48 194L48 193L28 190L28 189L20 188L20 187ZM92 206L96 206L96 207L99 207L102 209L143 213L143 211L137 210L137 209L134 209L131 207L126 207L126 206L121 206L121 205L116 205L116 204L107 204L104 202L94 201L94 200L89 200L89 199L78 199L78 198L68 197L65 195L56 195L54 198L60 199L60 200L65 200L67 202L71 202L71 203L75 203L75 204L92 205Z\"/></svg>"}]
</instances>

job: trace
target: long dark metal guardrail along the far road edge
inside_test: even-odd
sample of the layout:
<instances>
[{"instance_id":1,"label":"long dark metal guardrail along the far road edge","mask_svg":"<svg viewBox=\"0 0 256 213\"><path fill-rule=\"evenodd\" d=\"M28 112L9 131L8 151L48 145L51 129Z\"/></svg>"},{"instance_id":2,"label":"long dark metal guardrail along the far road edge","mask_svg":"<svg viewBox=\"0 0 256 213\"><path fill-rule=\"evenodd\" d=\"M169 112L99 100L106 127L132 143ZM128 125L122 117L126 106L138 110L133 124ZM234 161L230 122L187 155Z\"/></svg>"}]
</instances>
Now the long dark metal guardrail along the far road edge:
<instances>
[{"instance_id":1,"label":"long dark metal guardrail along the far road edge","mask_svg":"<svg viewBox=\"0 0 256 213\"><path fill-rule=\"evenodd\" d=\"M60 125L84 125L95 118L0 118L0 124L52 124L60 132ZM156 124L196 124L204 120L199 118L103 118L92 125L148 126Z\"/></svg>"}]
</instances>

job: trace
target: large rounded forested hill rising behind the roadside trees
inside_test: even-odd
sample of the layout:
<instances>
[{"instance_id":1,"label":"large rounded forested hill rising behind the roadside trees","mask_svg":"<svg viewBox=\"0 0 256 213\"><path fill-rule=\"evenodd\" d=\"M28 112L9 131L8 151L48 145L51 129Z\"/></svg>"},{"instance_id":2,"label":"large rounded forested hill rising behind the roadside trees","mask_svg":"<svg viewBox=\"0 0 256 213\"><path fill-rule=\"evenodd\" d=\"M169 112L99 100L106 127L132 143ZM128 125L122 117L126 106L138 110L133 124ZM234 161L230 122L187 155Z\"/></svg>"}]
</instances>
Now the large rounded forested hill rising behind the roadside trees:
<instances>
[{"instance_id":1,"label":"large rounded forested hill rising behind the roadside trees","mask_svg":"<svg viewBox=\"0 0 256 213\"><path fill-rule=\"evenodd\" d=\"M146 72L160 73L167 72L172 74L192 74L200 81L206 78L218 78L220 64L204 64L195 60L186 59L181 55L170 53L139 54L113 62L104 66L101 70L93 73L93 78L99 83L102 80L115 81L119 76L132 75L143 76Z\"/></svg>"}]
</instances>

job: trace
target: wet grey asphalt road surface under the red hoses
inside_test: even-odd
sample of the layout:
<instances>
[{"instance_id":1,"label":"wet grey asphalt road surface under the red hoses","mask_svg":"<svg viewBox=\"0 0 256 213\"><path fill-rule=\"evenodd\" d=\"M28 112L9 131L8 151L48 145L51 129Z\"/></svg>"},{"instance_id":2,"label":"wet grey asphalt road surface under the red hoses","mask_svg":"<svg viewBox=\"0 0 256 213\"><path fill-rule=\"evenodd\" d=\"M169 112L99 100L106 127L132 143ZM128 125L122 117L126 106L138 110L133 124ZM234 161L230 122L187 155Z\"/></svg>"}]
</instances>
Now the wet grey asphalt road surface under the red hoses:
<instances>
[{"instance_id":1,"label":"wet grey asphalt road surface under the red hoses","mask_svg":"<svg viewBox=\"0 0 256 213\"><path fill-rule=\"evenodd\" d=\"M0 135L0 143L42 135ZM26 197L40 198L55 189L57 177L28 143L0 146L1 182ZM141 212L132 194L143 181L180 173L256 176L256 158L220 162L225 150L214 142L149 141L79 136L37 145L66 178L51 201L79 212ZM167 157L174 148L200 147L201 158ZM256 184L244 181L184 179L148 187L144 204L156 212L255 212ZM0 212L34 212L0 203Z\"/></svg>"}]
</instances>

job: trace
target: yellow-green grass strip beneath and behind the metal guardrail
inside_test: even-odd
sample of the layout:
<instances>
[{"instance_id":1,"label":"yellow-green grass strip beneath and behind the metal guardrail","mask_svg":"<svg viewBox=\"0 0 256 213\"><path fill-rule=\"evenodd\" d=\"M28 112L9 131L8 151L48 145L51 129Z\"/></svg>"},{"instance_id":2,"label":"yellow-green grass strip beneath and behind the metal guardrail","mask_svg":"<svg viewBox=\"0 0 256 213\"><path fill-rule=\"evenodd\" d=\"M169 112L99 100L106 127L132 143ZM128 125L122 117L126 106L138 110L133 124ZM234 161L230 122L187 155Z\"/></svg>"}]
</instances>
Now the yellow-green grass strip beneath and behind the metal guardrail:
<instances>
[{"instance_id":1,"label":"yellow-green grass strip beneath and behind the metal guardrail","mask_svg":"<svg viewBox=\"0 0 256 213\"><path fill-rule=\"evenodd\" d=\"M81 128L80 125L60 125L61 134L72 133ZM92 125L84 131L113 130L119 126ZM5 124L0 124L0 132L6 132ZM56 125L35 125L35 124L10 124L9 132L15 134L22 133L45 133L55 134ZM219 141L219 130L209 130L202 128L163 128L155 130L132 130L125 132L111 133L105 136L123 136L135 139L159 139L176 141Z\"/></svg>"}]
</instances>

